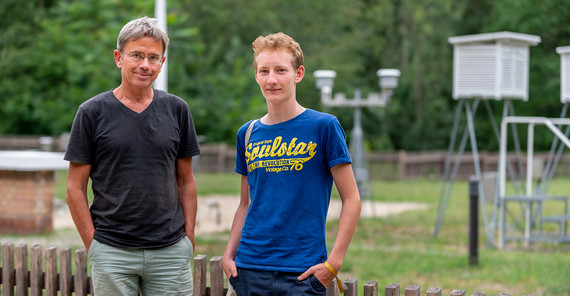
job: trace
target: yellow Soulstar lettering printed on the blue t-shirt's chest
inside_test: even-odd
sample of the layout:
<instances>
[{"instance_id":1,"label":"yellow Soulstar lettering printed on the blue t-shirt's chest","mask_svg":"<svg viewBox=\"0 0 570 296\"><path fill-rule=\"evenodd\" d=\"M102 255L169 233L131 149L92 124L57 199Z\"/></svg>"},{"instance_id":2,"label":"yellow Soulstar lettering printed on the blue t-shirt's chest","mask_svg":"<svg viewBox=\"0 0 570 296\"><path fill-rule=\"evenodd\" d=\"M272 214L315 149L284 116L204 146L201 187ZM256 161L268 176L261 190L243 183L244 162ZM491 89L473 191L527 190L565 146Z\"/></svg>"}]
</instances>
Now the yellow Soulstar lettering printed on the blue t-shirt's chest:
<instances>
[{"instance_id":1,"label":"yellow Soulstar lettering printed on the blue t-shirt's chest","mask_svg":"<svg viewBox=\"0 0 570 296\"><path fill-rule=\"evenodd\" d=\"M297 138L293 138L287 143L278 136L273 140L249 143L245 157L249 172L265 168L267 172L279 173L303 169L303 164L313 158L316 152L317 144L312 141L297 143Z\"/></svg>"}]
</instances>

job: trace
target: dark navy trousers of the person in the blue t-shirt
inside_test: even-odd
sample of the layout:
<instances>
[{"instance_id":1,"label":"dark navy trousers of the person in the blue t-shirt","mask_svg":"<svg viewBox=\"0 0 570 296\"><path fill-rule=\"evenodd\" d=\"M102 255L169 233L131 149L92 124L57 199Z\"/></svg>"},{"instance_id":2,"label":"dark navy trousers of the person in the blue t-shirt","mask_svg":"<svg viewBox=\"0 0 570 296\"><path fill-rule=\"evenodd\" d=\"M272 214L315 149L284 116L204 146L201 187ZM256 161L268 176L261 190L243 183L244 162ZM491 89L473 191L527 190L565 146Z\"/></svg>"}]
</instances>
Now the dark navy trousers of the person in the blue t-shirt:
<instances>
[{"instance_id":1,"label":"dark navy trousers of the person in the blue t-shirt","mask_svg":"<svg viewBox=\"0 0 570 296\"><path fill-rule=\"evenodd\" d=\"M297 280L299 275L238 267L238 276L229 280L238 296L326 295L327 289L314 275L303 281Z\"/></svg>"}]
</instances>

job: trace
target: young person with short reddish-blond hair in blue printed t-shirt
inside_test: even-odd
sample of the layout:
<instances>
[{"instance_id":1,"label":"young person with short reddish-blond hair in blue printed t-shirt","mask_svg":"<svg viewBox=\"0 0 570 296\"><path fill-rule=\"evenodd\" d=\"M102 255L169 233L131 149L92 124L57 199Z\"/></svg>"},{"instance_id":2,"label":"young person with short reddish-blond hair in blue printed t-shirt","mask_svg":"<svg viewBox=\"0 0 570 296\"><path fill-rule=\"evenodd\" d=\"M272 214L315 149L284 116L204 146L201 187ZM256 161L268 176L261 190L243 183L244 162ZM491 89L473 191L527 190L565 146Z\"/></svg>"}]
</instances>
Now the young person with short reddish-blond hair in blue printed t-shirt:
<instances>
[{"instance_id":1,"label":"young person with short reddish-blond hair in blue printed t-shirt","mask_svg":"<svg viewBox=\"0 0 570 296\"><path fill-rule=\"evenodd\" d=\"M336 117L297 102L295 88L305 68L293 38L260 36L253 51L267 114L237 133L241 198L224 271L240 296L325 295L360 216L346 137ZM325 222L333 182L342 211L328 255Z\"/></svg>"}]
</instances>

